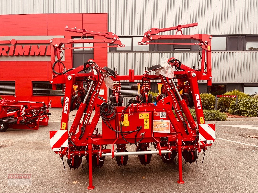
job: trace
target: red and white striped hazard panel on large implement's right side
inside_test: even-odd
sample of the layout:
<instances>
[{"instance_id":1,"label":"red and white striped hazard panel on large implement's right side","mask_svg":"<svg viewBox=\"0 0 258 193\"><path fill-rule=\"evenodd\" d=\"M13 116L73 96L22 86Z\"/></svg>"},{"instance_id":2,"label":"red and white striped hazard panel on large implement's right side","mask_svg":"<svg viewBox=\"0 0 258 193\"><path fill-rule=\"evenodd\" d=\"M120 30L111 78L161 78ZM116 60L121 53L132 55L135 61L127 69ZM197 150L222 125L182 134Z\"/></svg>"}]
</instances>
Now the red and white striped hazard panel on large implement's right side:
<instances>
[{"instance_id":1,"label":"red and white striped hazard panel on large implement's right side","mask_svg":"<svg viewBox=\"0 0 258 193\"><path fill-rule=\"evenodd\" d=\"M215 141L215 124L199 125L199 141L207 141L208 144Z\"/></svg>"}]
</instances>

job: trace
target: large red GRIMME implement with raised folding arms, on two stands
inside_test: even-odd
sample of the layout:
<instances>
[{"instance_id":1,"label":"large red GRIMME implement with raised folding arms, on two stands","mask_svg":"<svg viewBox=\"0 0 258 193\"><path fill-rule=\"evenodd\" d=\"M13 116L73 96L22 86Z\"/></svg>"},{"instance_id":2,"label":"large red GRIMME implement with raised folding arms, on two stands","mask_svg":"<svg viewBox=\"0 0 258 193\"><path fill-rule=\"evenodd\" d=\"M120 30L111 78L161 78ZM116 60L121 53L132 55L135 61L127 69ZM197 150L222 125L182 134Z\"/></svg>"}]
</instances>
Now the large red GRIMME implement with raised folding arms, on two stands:
<instances>
[{"instance_id":1,"label":"large red GRIMME implement with raised folding arms, on two stands","mask_svg":"<svg viewBox=\"0 0 258 193\"><path fill-rule=\"evenodd\" d=\"M215 140L215 125L205 124L198 80L207 80L211 85L211 39L207 34L183 35L181 29L193 27L197 23L178 25L176 27L148 30L139 42L146 44L187 44L199 46L200 65L196 69L190 68L174 57L162 59L161 64L149 64L142 75L135 75L129 69L128 75L118 75L108 67L99 67L93 59L75 68L62 71L60 61L61 46L70 43L93 43L96 40L50 40L52 46L53 69L58 64L59 72L55 70L53 85L65 85L65 96L62 113L61 128L50 131L50 144L60 158L67 161L70 168L76 169L86 157L89 166L89 186L93 189L92 167L101 167L105 157L115 158L119 166L126 165L128 156L138 155L141 164L149 164L151 155L157 154L164 163L172 163L178 154L179 180L182 178L182 156L186 162L197 161L198 154L207 150ZM123 46L119 37L113 33L98 33L86 30L68 29L81 32L82 36L103 36L102 43L113 43ZM176 30L181 35L159 35L160 32ZM151 40L159 39L192 39L198 43L158 43ZM151 41L151 42L150 42ZM54 51L54 52L53 52ZM57 54L57 61L55 55ZM198 54L198 53L197 53ZM174 71L174 70L175 71ZM151 72L154 72L151 74ZM150 81L159 80L160 94L152 101L148 95ZM135 100L123 103L120 94L120 81L140 82L139 95ZM103 84L113 89L112 101L99 96ZM73 105L73 85L78 85L83 94L78 97L80 104L72 125L68 129L70 107ZM53 86L54 87L54 86ZM126 105L124 105L126 104ZM194 106L197 124L189 108ZM94 111L95 110L95 114ZM92 121L90 118L93 116ZM96 128L102 120L102 134ZM82 119L82 122L80 120ZM154 148L150 148L153 143ZM135 151L128 152L127 145L135 144ZM111 148L107 148L111 145ZM64 160L63 160L64 162Z\"/></svg>"}]
</instances>

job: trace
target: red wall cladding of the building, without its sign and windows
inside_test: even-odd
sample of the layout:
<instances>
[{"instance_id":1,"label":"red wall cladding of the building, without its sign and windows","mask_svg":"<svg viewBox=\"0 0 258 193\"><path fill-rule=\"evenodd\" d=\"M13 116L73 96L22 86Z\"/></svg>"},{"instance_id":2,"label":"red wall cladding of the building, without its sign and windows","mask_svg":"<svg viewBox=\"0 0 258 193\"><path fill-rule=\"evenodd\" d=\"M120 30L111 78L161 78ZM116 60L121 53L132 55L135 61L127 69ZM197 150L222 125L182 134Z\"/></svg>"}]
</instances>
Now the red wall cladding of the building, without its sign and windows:
<instances>
[{"instance_id":1,"label":"red wall cladding of the building, without its sign and windows","mask_svg":"<svg viewBox=\"0 0 258 193\"><path fill-rule=\"evenodd\" d=\"M71 28L107 32L107 19L107 13L0 15L0 36L65 36L71 39L78 34L65 31L66 25ZM98 38L102 37L94 37ZM94 44L94 46L99 45ZM66 50L65 53L63 63L66 69L69 69L72 67L72 50ZM107 48L94 48L94 60L100 67L107 66L107 54ZM46 104L52 100L52 107L61 107L61 96L32 95L32 81L52 79L50 61L0 61L0 63L0 80L15 81L17 96L15 100L44 101ZM107 98L107 88L104 84L102 88ZM10 95L4 95L3 98L14 99Z\"/></svg>"}]
</instances>

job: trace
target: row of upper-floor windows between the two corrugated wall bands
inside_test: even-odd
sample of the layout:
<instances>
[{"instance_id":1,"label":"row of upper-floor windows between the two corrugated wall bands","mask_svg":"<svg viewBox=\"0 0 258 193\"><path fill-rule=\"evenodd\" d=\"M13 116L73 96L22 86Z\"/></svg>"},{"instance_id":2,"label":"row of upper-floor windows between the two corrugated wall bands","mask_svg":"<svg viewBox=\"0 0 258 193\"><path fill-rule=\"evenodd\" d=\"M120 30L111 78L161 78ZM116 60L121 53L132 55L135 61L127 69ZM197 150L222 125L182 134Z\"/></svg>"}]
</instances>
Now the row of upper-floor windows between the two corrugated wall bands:
<instances>
[{"instance_id":1,"label":"row of upper-floor windows between the two corrugated wall bands","mask_svg":"<svg viewBox=\"0 0 258 193\"><path fill-rule=\"evenodd\" d=\"M122 48L109 48L110 52L159 52L159 51L198 51L196 45L169 45L151 44L138 45L142 37L120 37L125 45ZM158 43L198 43L191 39L153 40ZM252 35L213 35L211 40L212 51L258 51L258 36Z\"/></svg>"}]
</instances>

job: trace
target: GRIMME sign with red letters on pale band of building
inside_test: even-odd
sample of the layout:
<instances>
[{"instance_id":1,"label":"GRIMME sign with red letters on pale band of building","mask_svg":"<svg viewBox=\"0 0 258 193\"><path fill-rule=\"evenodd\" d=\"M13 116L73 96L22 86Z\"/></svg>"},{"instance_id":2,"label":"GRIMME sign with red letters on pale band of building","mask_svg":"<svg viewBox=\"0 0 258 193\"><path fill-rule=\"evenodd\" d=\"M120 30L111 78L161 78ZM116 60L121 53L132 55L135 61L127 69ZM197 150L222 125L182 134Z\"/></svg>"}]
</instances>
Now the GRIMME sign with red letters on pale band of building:
<instances>
[{"instance_id":1,"label":"GRIMME sign with red letters on pale band of building","mask_svg":"<svg viewBox=\"0 0 258 193\"><path fill-rule=\"evenodd\" d=\"M5 36L0 37L0 60L50 61L49 39L64 36Z\"/></svg>"}]
</instances>

